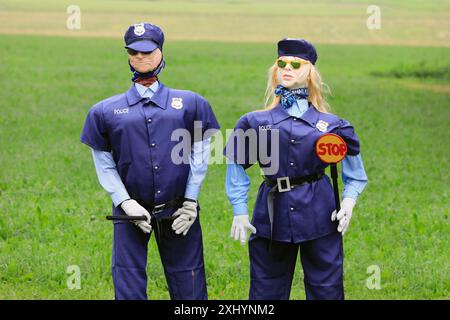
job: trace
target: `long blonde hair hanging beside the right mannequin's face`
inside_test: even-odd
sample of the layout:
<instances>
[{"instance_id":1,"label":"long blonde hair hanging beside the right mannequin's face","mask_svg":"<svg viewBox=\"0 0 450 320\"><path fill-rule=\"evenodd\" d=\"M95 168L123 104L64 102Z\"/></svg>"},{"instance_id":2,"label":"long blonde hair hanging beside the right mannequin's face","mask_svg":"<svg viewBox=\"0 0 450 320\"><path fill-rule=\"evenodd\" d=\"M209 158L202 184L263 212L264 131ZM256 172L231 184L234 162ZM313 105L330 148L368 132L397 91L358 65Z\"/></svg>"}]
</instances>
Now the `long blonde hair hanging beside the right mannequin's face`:
<instances>
[{"instance_id":1,"label":"long blonde hair hanging beside the right mannequin's face","mask_svg":"<svg viewBox=\"0 0 450 320\"><path fill-rule=\"evenodd\" d=\"M331 113L331 108L328 105L325 94L330 93L329 87L322 82L319 70L313 64L310 65L310 71L307 80L308 86L308 101L314 105L314 107L324 113ZM270 110L275 108L280 103L280 96L275 96L274 90L278 85L277 79L278 65L274 63L268 70L268 80L266 93L264 95L264 110Z\"/></svg>"}]
</instances>

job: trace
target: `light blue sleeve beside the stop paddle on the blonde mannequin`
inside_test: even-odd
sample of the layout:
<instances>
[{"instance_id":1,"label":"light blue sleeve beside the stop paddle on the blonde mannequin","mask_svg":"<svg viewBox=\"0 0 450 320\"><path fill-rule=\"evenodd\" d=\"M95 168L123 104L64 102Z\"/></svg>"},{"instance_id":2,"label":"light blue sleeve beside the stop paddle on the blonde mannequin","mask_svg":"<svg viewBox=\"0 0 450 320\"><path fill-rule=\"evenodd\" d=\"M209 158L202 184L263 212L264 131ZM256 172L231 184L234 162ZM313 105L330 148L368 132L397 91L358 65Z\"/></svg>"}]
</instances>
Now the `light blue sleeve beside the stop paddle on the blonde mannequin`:
<instances>
[{"instance_id":1,"label":"light blue sleeve beside the stop paddle on the blonde mannequin","mask_svg":"<svg viewBox=\"0 0 450 320\"><path fill-rule=\"evenodd\" d=\"M342 197L356 201L368 182L361 154L346 155L342 160L342 181L344 182Z\"/></svg>"}]
</instances>

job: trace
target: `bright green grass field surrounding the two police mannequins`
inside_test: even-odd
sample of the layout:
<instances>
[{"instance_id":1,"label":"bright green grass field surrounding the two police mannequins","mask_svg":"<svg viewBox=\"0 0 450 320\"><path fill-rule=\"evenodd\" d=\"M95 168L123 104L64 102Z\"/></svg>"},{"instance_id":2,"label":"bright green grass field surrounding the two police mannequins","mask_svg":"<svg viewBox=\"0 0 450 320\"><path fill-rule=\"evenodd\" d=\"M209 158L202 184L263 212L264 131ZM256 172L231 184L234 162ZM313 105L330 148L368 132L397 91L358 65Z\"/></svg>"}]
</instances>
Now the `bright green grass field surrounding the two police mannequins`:
<instances>
[{"instance_id":1,"label":"bright green grass field surrounding the two police mannequins","mask_svg":"<svg viewBox=\"0 0 450 320\"><path fill-rule=\"evenodd\" d=\"M39 3L0 1L0 15L57 11L55 2ZM97 3L91 4L91 14L102 14L106 4ZM316 5L320 8L328 3L318 1ZM361 3L354 1L348 6ZM411 1L410 15L406 1L392 3L404 19L412 19L421 10L419 1ZM445 12L438 10L438 5L448 8L448 2L426 3L422 9L430 21L448 26ZM232 4L218 2L219 10L193 1L179 12L171 2L156 3L165 13L185 17L202 8L223 16L221 12L234 10ZM346 12L352 14L352 10L346 11L346 4L335 5L342 17ZM270 15L270 5L263 2L254 15ZM112 2L109 7L108 14L126 14L128 18L135 14L119 10L128 8L124 1ZM317 12L327 16L323 10ZM362 21L364 25L364 17ZM113 31L128 22L133 21ZM8 24L13 26L11 21ZM90 152L79 142L79 135L94 103L130 85L121 31L116 37L101 36L101 30L95 38L67 37L57 36L56 31L48 35L51 33L45 30L50 29L45 28L8 31L3 21L1 25L0 299L112 299L112 226L104 220L110 201L97 182ZM161 25L164 28L164 23ZM181 34L177 26L168 28ZM274 39L267 43L246 42L245 38L211 42L189 40L189 30L178 39L167 33L167 68L161 81L204 95L225 131L240 115L261 107L266 69L273 63L274 41L279 35L271 34ZM395 39L401 35L384 35L392 40L386 40L386 45L377 41L376 46L371 45L370 39L360 44L358 32L363 31L348 37L354 44L342 45L327 43L329 34L324 31L317 46L318 67L333 93L330 104L355 126L369 177L345 236L346 296L449 299L448 29L435 30L435 35L444 32L444 41L433 36L421 38L421 33L416 38L432 47L411 46L408 39L398 42L408 46L396 45ZM207 33L203 35L198 38L211 40ZM228 237L232 212L224 191L224 173L225 165L211 165L200 197L209 296L246 299L247 248ZM256 167L250 174L252 205L260 178ZM150 299L168 299L154 239L150 243L148 295ZM80 290L67 288L69 265L81 268ZM380 290L366 287L367 268L372 265L381 268ZM291 298L304 298L299 264Z\"/></svg>"}]
</instances>

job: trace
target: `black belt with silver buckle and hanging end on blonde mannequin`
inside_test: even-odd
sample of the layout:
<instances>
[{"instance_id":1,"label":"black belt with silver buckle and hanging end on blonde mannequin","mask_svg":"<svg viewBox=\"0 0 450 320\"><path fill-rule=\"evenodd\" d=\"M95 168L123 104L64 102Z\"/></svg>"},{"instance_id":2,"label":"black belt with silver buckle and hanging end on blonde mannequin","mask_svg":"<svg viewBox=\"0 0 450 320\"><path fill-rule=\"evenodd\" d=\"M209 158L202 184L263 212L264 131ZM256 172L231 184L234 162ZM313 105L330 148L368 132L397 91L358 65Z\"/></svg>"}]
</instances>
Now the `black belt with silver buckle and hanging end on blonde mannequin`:
<instances>
[{"instance_id":1,"label":"black belt with silver buckle and hanging end on blonde mannequin","mask_svg":"<svg viewBox=\"0 0 450 320\"><path fill-rule=\"evenodd\" d=\"M308 176L302 177L281 177L276 180L271 180L264 176L264 181L267 186L270 187L270 191L267 194L267 209L269 211L269 221L270 221L270 244L269 244L269 252L272 250L272 234L273 234L273 201L275 199L275 195L278 192L288 192L291 191L293 186L301 186L307 183L311 183L317 180L322 179L325 175L324 172L310 174Z\"/></svg>"}]
</instances>

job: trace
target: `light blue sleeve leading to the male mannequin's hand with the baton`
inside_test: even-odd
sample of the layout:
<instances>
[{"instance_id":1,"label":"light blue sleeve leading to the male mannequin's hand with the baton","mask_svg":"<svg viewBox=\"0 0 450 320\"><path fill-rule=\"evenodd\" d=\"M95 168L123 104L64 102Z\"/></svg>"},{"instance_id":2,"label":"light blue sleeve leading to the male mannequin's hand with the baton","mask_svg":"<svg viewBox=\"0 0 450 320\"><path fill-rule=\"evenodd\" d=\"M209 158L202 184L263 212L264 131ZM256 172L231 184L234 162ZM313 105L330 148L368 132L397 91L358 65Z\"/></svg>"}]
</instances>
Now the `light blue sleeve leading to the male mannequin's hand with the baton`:
<instances>
[{"instance_id":1,"label":"light blue sleeve leading to the male mannequin's hand with the baton","mask_svg":"<svg viewBox=\"0 0 450 320\"><path fill-rule=\"evenodd\" d=\"M130 196L117 172L112 153L92 148L91 150L98 181L111 197L114 206L117 207L123 201L130 199Z\"/></svg>"}]
</instances>

